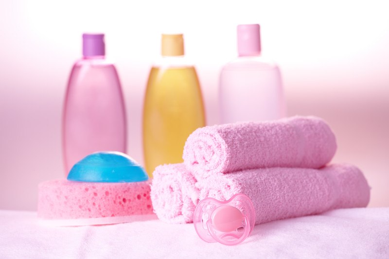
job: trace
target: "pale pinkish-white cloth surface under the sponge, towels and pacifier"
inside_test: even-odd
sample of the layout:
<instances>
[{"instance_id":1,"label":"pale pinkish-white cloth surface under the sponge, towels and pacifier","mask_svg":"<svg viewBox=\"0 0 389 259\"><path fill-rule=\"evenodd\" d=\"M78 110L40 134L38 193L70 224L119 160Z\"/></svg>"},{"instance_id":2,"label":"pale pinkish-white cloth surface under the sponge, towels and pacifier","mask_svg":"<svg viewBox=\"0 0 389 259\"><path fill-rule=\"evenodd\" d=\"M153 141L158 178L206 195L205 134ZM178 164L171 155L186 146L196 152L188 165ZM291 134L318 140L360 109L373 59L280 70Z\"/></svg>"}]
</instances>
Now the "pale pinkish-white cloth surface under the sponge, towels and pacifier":
<instances>
[{"instance_id":1,"label":"pale pinkish-white cloth surface under the sponge, towels and pacifier","mask_svg":"<svg viewBox=\"0 0 389 259\"><path fill-rule=\"evenodd\" d=\"M389 258L389 208L336 209L254 226L239 245L206 243L193 224L160 220L45 227L0 210L0 258Z\"/></svg>"}]
</instances>

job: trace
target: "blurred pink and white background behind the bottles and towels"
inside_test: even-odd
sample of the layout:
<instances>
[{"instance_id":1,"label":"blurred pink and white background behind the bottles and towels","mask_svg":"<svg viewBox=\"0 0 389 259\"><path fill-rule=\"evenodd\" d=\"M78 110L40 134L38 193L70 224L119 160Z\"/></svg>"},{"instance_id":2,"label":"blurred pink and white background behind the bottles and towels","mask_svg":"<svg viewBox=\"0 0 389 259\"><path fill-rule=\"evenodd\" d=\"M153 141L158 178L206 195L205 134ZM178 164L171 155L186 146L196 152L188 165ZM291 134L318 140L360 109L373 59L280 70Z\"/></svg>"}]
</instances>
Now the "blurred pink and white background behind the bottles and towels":
<instances>
[{"instance_id":1,"label":"blurred pink and white background behind the bottles and towels","mask_svg":"<svg viewBox=\"0 0 389 259\"><path fill-rule=\"evenodd\" d=\"M0 2L0 209L36 209L37 184L63 177L60 126L83 32L106 33L128 116L128 154L143 162L141 109L160 33L183 32L207 122L218 123L221 66L236 55L236 25L260 23L265 56L283 74L288 115L316 115L337 136L335 162L389 206L389 16L385 1ZM293 2L293 3L292 3Z\"/></svg>"}]
</instances>

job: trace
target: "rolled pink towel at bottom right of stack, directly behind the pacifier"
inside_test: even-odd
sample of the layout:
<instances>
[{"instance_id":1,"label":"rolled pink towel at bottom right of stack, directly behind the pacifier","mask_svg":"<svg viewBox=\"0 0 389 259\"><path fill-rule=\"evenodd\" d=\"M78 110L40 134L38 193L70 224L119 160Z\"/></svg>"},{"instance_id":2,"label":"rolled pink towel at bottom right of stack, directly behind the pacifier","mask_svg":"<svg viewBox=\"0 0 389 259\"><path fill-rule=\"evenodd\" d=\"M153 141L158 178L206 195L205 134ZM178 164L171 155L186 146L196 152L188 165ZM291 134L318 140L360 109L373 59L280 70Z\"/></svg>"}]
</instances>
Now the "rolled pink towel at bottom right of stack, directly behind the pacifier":
<instances>
[{"instance_id":1,"label":"rolled pink towel at bottom right of stack, directly behind the pacifier","mask_svg":"<svg viewBox=\"0 0 389 259\"><path fill-rule=\"evenodd\" d=\"M366 207L370 187L355 166L322 169L264 168L213 176L198 182L200 200L227 200L244 193L253 202L256 224L313 215L336 208Z\"/></svg>"}]
</instances>

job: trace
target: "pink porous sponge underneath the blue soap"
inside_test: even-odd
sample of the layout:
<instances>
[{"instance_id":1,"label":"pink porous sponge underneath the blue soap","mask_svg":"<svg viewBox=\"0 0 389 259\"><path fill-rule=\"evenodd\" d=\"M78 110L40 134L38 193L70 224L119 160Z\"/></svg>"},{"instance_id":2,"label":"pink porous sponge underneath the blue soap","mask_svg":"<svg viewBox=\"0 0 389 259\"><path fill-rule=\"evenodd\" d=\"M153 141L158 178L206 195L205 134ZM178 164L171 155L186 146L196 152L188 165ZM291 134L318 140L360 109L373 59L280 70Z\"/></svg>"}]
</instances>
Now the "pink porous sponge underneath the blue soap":
<instances>
[{"instance_id":1,"label":"pink porous sponge underneath the blue soap","mask_svg":"<svg viewBox=\"0 0 389 259\"><path fill-rule=\"evenodd\" d=\"M155 218L149 181L98 183L59 179L40 183L38 193L38 217L45 224L114 224Z\"/></svg>"}]
</instances>

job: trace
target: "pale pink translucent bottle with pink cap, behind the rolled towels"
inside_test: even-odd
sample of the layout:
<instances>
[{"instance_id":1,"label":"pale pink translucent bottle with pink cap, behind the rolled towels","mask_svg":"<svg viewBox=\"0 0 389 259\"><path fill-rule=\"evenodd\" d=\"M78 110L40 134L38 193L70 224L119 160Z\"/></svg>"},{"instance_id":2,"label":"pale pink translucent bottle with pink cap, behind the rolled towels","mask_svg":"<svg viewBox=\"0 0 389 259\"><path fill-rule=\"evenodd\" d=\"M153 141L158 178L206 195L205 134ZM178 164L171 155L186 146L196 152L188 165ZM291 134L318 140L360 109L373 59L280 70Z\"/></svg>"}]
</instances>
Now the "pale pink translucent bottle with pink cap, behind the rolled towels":
<instances>
[{"instance_id":1,"label":"pale pink translucent bottle with pink cap, behind the rolled towels","mask_svg":"<svg viewBox=\"0 0 389 259\"><path fill-rule=\"evenodd\" d=\"M238 25L239 57L221 71L221 123L267 121L285 114L280 69L261 54L259 24Z\"/></svg>"}]
</instances>

